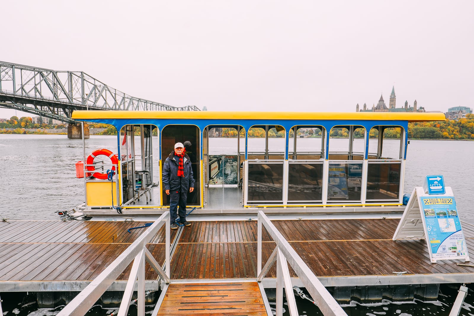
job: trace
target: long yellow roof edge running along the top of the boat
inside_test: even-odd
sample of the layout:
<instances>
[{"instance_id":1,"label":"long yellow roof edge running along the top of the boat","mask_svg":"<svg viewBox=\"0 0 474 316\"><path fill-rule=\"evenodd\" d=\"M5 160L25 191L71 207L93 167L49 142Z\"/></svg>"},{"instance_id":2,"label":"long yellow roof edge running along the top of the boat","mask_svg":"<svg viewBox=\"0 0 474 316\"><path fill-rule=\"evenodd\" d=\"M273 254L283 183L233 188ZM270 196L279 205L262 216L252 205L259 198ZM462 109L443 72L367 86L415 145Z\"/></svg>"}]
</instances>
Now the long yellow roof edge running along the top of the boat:
<instances>
[{"instance_id":1,"label":"long yellow roof edge running along the top of the boat","mask_svg":"<svg viewBox=\"0 0 474 316\"><path fill-rule=\"evenodd\" d=\"M412 112L224 112L224 111L73 111L73 119L275 119L444 121L444 113Z\"/></svg>"}]
</instances>

